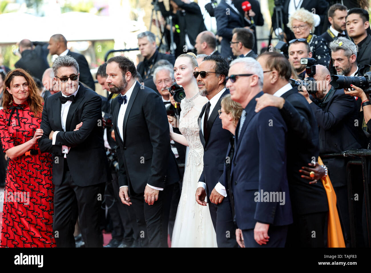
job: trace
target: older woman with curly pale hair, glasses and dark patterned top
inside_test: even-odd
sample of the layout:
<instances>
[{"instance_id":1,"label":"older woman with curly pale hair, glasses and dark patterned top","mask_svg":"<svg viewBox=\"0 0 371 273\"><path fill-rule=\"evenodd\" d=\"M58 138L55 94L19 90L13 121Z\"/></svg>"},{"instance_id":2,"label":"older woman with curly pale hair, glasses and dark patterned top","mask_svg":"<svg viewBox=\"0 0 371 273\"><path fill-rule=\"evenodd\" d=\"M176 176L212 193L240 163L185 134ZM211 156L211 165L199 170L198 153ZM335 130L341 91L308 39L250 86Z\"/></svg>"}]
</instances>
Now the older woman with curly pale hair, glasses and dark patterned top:
<instances>
[{"instance_id":1,"label":"older woman with curly pale hair, glasses and dark patterned top","mask_svg":"<svg viewBox=\"0 0 371 273\"><path fill-rule=\"evenodd\" d=\"M325 39L314 35L314 16L306 9L298 9L289 17L287 24L289 29L295 35L296 39L290 40L290 43L299 40L300 42L307 42L312 52L313 58L316 59L316 64L324 65L326 67L330 64L330 52Z\"/></svg>"}]
</instances>

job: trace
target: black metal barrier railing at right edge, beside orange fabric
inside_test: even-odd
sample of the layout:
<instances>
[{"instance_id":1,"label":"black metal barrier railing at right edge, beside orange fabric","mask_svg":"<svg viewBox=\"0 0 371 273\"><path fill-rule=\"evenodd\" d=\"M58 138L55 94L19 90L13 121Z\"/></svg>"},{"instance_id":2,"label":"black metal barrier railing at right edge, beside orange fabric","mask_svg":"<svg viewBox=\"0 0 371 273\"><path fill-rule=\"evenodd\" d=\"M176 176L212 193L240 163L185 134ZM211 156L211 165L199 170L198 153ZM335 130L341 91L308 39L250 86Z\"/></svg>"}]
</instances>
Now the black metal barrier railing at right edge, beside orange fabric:
<instances>
[{"instance_id":1,"label":"black metal barrier railing at right edge, beside orange fabric","mask_svg":"<svg viewBox=\"0 0 371 273\"><path fill-rule=\"evenodd\" d=\"M349 208L349 222L350 222L350 237L351 246L356 247L356 221L355 221L355 209L354 209L354 181L352 181L352 175L350 167L353 165L362 166L362 176L363 176L363 189L364 189L364 199L365 199L365 212L366 212L366 225L367 225L367 242L366 247L371 247L371 194L369 185L369 168L371 163L371 150L367 149L349 149L341 153L329 153L320 155L321 158L328 157L352 157L354 159L347 163L347 186L348 186L348 208ZM357 160L356 158L361 158ZM331 176L330 176L331 179Z\"/></svg>"}]
</instances>

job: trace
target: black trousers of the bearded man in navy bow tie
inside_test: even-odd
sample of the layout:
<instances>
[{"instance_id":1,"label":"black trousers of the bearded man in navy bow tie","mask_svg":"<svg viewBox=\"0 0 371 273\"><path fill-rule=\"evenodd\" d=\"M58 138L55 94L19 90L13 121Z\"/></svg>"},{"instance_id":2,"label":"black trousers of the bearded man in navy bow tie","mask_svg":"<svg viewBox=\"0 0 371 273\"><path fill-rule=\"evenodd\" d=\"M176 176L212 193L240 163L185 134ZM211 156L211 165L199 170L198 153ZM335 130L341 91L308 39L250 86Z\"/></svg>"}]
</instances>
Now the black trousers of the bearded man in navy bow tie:
<instances>
[{"instance_id":1,"label":"black trousers of the bearded man in navy bow tie","mask_svg":"<svg viewBox=\"0 0 371 273\"><path fill-rule=\"evenodd\" d=\"M167 229L173 188L174 184L167 185L163 191L159 191L158 200L153 205L144 201L144 192L137 194L129 188L142 247L168 247Z\"/></svg>"}]
</instances>

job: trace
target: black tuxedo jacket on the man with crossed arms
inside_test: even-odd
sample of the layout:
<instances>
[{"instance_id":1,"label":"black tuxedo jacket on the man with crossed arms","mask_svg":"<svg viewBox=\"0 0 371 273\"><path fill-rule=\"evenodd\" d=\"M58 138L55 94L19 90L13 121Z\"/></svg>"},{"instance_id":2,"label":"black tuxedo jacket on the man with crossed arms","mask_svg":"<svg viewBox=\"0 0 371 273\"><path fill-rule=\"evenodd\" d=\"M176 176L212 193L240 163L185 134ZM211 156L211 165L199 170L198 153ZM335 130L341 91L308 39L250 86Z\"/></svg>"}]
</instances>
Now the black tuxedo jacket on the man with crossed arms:
<instances>
[{"instance_id":1,"label":"black tuxedo jacket on the man with crossed arms","mask_svg":"<svg viewBox=\"0 0 371 273\"><path fill-rule=\"evenodd\" d=\"M112 180L103 140L102 100L94 91L79 85L76 101L67 114L66 131L60 116L61 92L46 98L40 128L44 134L39 139L42 152L53 153L53 184L59 186L63 179L64 154L62 145L71 147L67 154L68 168L78 186L90 186ZM73 131L76 125L82 127ZM59 131L55 145L49 139L51 131Z\"/></svg>"}]
</instances>

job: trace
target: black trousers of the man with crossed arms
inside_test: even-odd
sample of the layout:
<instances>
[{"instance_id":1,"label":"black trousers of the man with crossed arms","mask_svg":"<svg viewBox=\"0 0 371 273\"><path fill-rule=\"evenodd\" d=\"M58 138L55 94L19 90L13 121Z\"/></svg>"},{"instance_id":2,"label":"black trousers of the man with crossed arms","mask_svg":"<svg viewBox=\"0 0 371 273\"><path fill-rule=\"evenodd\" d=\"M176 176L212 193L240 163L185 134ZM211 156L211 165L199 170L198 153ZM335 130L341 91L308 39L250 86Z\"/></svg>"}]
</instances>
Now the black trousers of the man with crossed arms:
<instances>
[{"instance_id":1,"label":"black trousers of the man with crossed arms","mask_svg":"<svg viewBox=\"0 0 371 273\"><path fill-rule=\"evenodd\" d=\"M57 247L75 247L73 232L78 218L85 247L103 246L99 210L104 186L78 186L68 169L63 172L63 182L54 191L53 233Z\"/></svg>"}]
</instances>

